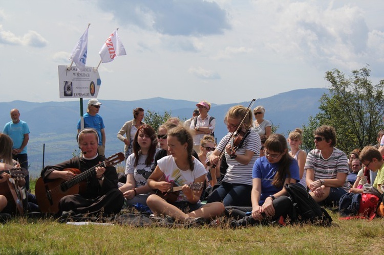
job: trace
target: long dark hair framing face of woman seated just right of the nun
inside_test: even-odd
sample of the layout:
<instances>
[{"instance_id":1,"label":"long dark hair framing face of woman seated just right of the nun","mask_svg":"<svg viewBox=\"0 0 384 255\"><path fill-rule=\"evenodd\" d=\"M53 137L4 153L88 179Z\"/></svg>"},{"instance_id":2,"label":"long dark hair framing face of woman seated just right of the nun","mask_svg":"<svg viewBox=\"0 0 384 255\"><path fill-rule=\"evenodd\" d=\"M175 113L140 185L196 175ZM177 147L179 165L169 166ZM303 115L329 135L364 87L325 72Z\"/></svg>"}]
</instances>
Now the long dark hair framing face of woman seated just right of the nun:
<instances>
[{"instance_id":1,"label":"long dark hair framing face of woman seated just right of the nun","mask_svg":"<svg viewBox=\"0 0 384 255\"><path fill-rule=\"evenodd\" d=\"M145 135L147 135L147 136L149 136L151 138L151 147L148 150L148 155L147 155L147 157L145 159L145 165L146 166L151 166L152 160L154 159L155 153L156 153L157 138L156 138L155 129L153 129L153 127L151 127L148 124L141 125L137 129L137 131L136 131L135 138L134 138L134 141L133 141L133 153L135 154L134 166L135 167L137 166L137 163L139 161L139 157L140 157L140 154L141 154L141 148L140 148L139 143L137 142L137 139L139 137L140 131L142 131Z\"/></svg>"}]
</instances>

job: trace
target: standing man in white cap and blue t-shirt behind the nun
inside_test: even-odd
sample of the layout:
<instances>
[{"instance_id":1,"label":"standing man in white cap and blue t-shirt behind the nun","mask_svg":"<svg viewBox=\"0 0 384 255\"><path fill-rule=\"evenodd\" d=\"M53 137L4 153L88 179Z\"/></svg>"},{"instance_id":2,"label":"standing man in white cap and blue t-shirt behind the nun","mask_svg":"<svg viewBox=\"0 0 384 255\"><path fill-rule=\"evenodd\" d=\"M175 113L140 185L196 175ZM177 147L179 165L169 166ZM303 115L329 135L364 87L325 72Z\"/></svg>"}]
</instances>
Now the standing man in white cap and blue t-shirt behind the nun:
<instances>
[{"instance_id":1,"label":"standing man in white cap and blue t-shirt behind the nun","mask_svg":"<svg viewBox=\"0 0 384 255\"><path fill-rule=\"evenodd\" d=\"M101 107L101 103L93 98L88 101L87 113L84 114L84 127L83 128L94 128L99 137L98 153L101 156L105 155L105 131L104 122L101 116L98 114ZM80 121L77 123L77 133L81 131Z\"/></svg>"}]
</instances>

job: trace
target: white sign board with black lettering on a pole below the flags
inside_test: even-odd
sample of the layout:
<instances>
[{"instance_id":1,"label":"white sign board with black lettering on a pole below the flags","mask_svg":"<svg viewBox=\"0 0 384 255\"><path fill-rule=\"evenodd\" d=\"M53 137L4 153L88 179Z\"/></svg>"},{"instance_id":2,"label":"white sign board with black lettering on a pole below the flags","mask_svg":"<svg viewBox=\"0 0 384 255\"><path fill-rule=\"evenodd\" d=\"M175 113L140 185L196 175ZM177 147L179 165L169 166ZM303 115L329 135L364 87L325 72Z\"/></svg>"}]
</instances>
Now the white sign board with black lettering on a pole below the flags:
<instances>
[{"instance_id":1,"label":"white sign board with black lettering on a pole below the flags","mask_svg":"<svg viewBox=\"0 0 384 255\"><path fill-rule=\"evenodd\" d=\"M101 79L96 68L86 66L85 71L78 71L76 66L68 68L59 65L60 98L97 98Z\"/></svg>"}]
</instances>

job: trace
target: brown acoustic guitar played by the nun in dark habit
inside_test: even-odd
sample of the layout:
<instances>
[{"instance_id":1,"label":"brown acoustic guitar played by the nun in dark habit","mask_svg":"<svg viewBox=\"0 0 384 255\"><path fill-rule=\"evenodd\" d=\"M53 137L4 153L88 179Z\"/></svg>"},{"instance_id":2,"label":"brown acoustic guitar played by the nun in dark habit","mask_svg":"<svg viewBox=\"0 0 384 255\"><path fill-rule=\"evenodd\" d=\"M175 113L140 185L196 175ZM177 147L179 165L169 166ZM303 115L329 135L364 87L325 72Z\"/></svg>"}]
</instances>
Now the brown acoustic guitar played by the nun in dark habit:
<instances>
[{"instance_id":1,"label":"brown acoustic guitar played by the nun in dark habit","mask_svg":"<svg viewBox=\"0 0 384 255\"><path fill-rule=\"evenodd\" d=\"M100 164L84 172L75 168L67 168L76 174L71 180L64 181L61 178L44 182L42 178L36 181L35 194L39 209L42 213L56 214L59 212L59 201L67 195L81 194L86 189L85 180L95 174L97 167L114 166L125 159L122 152L116 153L102 161Z\"/></svg>"}]
</instances>

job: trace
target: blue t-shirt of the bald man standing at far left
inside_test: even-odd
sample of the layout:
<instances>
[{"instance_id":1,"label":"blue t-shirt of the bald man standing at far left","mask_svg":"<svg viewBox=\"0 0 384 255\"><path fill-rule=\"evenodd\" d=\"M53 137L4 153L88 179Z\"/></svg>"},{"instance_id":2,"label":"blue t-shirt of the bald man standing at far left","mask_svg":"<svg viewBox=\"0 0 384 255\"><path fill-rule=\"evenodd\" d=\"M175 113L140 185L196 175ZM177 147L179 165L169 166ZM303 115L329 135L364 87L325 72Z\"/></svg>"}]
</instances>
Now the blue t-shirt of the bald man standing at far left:
<instances>
[{"instance_id":1,"label":"blue t-shirt of the bald man standing at far left","mask_svg":"<svg viewBox=\"0 0 384 255\"><path fill-rule=\"evenodd\" d=\"M22 147L24 141L24 135L29 134L29 127L26 122L20 120L18 123L8 122L5 124L3 133L11 137L13 146L12 149L18 149ZM27 146L19 154L27 154Z\"/></svg>"}]
</instances>

